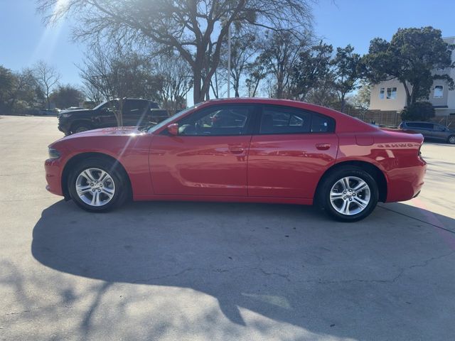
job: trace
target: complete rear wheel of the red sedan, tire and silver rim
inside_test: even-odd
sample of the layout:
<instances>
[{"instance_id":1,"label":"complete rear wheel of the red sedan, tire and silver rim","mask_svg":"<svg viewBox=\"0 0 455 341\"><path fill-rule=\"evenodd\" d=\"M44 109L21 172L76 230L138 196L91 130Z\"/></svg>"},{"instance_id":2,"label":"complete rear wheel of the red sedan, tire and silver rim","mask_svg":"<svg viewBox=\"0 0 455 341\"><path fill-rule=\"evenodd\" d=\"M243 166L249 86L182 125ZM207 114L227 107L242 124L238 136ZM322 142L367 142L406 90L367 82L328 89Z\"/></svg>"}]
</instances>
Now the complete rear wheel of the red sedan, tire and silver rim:
<instances>
[{"instance_id":1,"label":"complete rear wheel of the red sedan, tire and silver rim","mask_svg":"<svg viewBox=\"0 0 455 341\"><path fill-rule=\"evenodd\" d=\"M358 167L343 167L329 173L321 186L319 202L328 215L341 222L368 217L378 204L378 184Z\"/></svg>"}]
</instances>

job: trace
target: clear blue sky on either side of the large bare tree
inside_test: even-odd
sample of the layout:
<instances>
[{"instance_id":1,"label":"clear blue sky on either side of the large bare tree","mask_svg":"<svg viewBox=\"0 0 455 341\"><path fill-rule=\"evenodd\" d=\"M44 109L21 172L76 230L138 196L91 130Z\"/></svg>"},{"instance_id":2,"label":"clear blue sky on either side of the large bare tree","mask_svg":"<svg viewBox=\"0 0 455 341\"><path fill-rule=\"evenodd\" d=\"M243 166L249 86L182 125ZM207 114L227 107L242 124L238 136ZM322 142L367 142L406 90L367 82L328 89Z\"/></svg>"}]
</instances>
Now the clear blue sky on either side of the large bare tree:
<instances>
[{"instance_id":1,"label":"clear blue sky on either side of the large bare tree","mask_svg":"<svg viewBox=\"0 0 455 341\"><path fill-rule=\"evenodd\" d=\"M375 37L390 40L397 28L434 26L455 36L455 1L320 0L314 5L316 34L334 46L348 43L358 53ZM71 40L70 23L45 27L33 0L0 0L0 65L13 70L45 60L58 68L61 82L79 85L75 64L85 46Z\"/></svg>"}]
</instances>

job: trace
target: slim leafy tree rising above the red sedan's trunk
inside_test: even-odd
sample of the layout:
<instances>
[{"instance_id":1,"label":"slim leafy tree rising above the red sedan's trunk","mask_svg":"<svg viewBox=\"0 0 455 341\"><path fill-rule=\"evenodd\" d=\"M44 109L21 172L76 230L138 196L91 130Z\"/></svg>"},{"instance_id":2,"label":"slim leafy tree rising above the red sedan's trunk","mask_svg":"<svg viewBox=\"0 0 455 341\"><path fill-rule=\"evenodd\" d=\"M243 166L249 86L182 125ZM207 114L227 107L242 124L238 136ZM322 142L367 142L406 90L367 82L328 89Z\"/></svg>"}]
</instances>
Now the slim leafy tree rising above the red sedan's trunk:
<instances>
[{"instance_id":1,"label":"slim leafy tree rising above the red sedan's trunk","mask_svg":"<svg viewBox=\"0 0 455 341\"><path fill-rule=\"evenodd\" d=\"M346 48L336 48L336 55L333 58L334 85L338 93L341 105L341 112L346 105L346 94L357 89L360 75L357 68L360 62L360 55L354 53L354 48L347 45Z\"/></svg>"}]
</instances>

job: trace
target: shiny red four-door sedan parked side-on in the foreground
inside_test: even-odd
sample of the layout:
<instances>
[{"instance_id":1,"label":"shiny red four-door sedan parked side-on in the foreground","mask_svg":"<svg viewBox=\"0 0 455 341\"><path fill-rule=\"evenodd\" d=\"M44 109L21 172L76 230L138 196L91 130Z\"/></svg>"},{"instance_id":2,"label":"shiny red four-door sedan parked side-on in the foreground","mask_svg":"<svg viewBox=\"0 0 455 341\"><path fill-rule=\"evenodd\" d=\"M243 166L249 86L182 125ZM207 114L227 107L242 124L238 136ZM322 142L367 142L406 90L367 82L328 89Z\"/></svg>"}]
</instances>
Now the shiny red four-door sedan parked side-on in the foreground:
<instances>
[{"instance_id":1,"label":"shiny red four-door sedan parked side-on in the foreground","mask_svg":"<svg viewBox=\"0 0 455 341\"><path fill-rule=\"evenodd\" d=\"M47 189L85 210L133 200L316 203L342 221L424 183L423 137L278 99L213 100L148 129L97 129L49 146Z\"/></svg>"}]
</instances>

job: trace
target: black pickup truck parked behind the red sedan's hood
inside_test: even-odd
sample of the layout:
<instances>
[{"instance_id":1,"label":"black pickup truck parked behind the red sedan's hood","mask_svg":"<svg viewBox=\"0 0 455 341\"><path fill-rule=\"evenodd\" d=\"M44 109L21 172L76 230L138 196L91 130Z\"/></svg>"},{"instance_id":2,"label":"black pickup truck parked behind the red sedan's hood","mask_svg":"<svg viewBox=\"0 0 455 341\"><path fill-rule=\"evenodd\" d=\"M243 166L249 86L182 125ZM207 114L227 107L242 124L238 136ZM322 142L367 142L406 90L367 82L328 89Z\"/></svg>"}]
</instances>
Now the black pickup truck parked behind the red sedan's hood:
<instances>
[{"instance_id":1,"label":"black pickup truck parked behind the red sedan's hood","mask_svg":"<svg viewBox=\"0 0 455 341\"><path fill-rule=\"evenodd\" d=\"M122 104L122 105L120 105ZM112 99L93 109L62 111L58 114L58 130L65 135L90 129L117 126L115 112L122 107L124 126L149 126L168 117L166 109L159 109L156 102L147 99Z\"/></svg>"}]
</instances>

